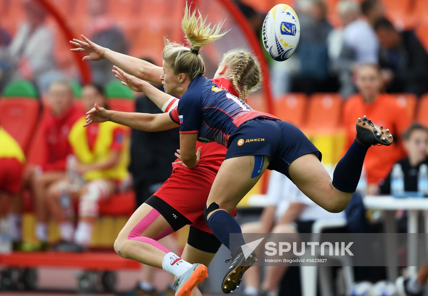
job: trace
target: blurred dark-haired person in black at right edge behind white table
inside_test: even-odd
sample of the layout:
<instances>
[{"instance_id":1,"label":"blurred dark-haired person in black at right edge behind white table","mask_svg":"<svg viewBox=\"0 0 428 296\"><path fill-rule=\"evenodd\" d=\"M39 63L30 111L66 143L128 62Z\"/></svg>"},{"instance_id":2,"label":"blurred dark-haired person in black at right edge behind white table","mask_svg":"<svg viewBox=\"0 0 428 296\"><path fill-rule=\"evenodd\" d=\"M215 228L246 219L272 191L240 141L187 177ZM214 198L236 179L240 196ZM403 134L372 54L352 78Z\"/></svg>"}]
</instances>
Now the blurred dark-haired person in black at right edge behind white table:
<instances>
[{"instance_id":1,"label":"blurred dark-haired person in black at right edge behind white table","mask_svg":"<svg viewBox=\"0 0 428 296\"><path fill-rule=\"evenodd\" d=\"M404 191L417 192L419 167L428 165L428 128L419 123L410 125L403 133L403 146L407 157L396 163L404 174ZM380 182L380 194L391 194L391 172Z\"/></svg>"}]
</instances>

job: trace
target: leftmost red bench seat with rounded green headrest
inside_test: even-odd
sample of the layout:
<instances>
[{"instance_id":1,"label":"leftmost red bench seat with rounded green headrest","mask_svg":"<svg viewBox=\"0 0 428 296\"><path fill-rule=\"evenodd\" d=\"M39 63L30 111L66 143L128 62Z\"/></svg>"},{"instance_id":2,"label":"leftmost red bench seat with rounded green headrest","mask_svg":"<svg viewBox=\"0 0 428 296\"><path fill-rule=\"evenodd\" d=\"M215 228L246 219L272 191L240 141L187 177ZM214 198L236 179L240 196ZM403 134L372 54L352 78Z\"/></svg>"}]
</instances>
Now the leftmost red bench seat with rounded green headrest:
<instances>
[{"instance_id":1,"label":"leftmost red bench seat with rounded green headrest","mask_svg":"<svg viewBox=\"0 0 428 296\"><path fill-rule=\"evenodd\" d=\"M32 83L17 80L9 83L0 99L0 124L27 151L39 116L40 105Z\"/></svg>"}]
</instances>

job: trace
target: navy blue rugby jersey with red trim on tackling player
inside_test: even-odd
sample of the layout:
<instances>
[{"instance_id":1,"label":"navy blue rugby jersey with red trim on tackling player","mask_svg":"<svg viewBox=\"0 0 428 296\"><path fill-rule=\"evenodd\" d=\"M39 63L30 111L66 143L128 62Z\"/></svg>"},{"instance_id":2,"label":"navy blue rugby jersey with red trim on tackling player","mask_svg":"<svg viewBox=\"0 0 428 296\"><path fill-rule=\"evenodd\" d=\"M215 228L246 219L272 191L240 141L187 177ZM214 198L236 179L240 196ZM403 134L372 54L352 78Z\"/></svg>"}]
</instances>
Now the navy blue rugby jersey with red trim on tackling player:
<instances>
[{"instance_id":1,"label":"navy blue rugby jersey with red trim on tackling player","mask_svg":"<svg viewBox=\"0 0 428 296\"><path fill-rule=\"evenodd\" d=\"M178 101L178 107L169 112L171 119L180 124L180 133L198 133L200 142L227 146L230 135L245 121L256 117L279 120L253 110L226 91L233 88L229 80L214 81L218 85L205 76L196 77Z\"/></svg>"}]
</instances>

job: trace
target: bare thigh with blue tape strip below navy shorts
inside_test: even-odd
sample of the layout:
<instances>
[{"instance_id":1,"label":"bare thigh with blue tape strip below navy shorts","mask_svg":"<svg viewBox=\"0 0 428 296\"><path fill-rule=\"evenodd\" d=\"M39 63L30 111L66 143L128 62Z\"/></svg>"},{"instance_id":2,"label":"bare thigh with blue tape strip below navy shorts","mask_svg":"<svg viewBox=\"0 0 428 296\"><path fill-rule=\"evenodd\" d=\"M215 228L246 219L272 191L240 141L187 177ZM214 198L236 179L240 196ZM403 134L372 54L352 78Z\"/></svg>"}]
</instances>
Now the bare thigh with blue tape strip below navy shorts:
<instances>
[{"instance_id":1,"label":"bare thigh with blue tape strip below navy shorts","mask_svg":"<svg viewBox=\"0 0 428 296\"><path fill-rule=\"evenodd\" d=\"M261 172L253 178L254 166L257 169L261 164L260 160L255 164L255 159L254 155L247 155L224 160L211 187L207 207L215 202L220 209L231 213L238 202L256 185L269 165L269 157L264 156Z\"/></svg>"}]
</instances>

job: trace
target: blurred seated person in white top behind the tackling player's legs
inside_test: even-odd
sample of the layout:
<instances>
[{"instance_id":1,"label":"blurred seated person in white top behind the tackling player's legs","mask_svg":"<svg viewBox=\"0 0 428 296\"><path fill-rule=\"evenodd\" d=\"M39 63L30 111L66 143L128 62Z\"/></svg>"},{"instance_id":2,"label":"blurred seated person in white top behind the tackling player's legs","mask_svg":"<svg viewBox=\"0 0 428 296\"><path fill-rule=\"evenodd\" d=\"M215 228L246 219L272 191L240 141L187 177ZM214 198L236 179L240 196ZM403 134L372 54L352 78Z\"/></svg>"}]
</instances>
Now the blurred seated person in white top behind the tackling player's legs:
<instances>
[{"instance_id":1,"label":"blurred seated person in white top behind the tackling player's legs","mask_svg":"<svg viewBox=\"0 0 428 296\"><path fill-rule=\"evenodd\" d=\"M312 225L321 219L345 218L345 212L330 213L315 204L294 183L279 172L270 172L268 205L258 222L242 225L243 233L312 233ZM337 233L346 232L338 227ZM259 267L253 266L245 273L245 296L273 296L288 266L267 266L260 284ZM287 293L289 293L288 291ZM296 293L290 293L290 295Z\"/></svg>"}]
</instances>

